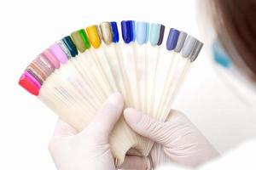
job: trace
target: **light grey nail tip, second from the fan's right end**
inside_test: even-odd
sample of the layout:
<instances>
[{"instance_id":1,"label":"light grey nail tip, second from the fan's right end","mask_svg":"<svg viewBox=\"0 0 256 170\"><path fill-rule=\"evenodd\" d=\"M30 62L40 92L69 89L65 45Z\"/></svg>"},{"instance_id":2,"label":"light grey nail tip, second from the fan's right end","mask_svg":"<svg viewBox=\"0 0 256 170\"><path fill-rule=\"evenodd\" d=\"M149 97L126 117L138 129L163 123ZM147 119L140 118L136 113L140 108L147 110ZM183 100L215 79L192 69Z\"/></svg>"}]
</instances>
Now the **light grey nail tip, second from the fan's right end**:
<instances>
[{"instance_id":1,"label":"light grey nail tip, second from the fan's right end","mask_svg":"<svg viewBox=\"0 0 256 170\"><path fill-rule=\"evenodd\" d=\"M195 37L188 36L186 38L184 45L183 45L183 49L182 49L183 57L188 58L192 54L192 52L195 48L196 42L197 42L197 40L195 39Z\"/></svg>"}]
</instances>

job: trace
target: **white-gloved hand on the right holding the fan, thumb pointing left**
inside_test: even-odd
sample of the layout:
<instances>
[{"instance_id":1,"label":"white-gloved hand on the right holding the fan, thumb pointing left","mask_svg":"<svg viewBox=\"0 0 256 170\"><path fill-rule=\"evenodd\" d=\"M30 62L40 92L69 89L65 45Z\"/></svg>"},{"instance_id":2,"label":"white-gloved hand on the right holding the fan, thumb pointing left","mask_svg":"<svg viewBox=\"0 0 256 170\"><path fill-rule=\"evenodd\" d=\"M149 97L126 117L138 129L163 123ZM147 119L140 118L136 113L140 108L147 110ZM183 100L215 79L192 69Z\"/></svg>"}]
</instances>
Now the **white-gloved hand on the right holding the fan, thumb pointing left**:
<instances>
[{"instance_id":1,"label":"white-gloved hand on the right holding the fan, thumb pointing left","mask_svg":"<svg viewBox=\"0 0 256 170\"><path fill-rule=\"evenodd\" d=\"M124 114L125 121L135 132L155 142L150 151L152 167L168 162L196 167L218 156L212 144L178 111L171 111L166 122L155 122L149 116L130 108ZM149 169L147 159L127 156L121 168Z\"/></svg>"}]
</instances>

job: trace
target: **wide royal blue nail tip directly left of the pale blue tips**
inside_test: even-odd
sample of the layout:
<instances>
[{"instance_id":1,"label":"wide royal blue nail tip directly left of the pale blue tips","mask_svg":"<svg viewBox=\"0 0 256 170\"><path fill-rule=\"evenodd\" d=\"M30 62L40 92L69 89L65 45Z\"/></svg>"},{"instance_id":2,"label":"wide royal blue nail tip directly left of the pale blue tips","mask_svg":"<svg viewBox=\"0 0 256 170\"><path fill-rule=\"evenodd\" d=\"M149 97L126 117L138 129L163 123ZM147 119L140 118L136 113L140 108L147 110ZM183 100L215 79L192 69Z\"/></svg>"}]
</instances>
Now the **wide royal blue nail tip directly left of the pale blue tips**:
<instances>
[{"instance_id":1,"label":"wide royal blue nail tip directly left of the pale blue tips","mask_svg":"<svg viewBox=\"0 0 256 170\"><path fill-rule=\"evenodd\" d=\"M132 20L123 20L121 22L122 37L125 43L130 43L135 40L134 37L134 23Z\"/></svg>"}]
</instances>

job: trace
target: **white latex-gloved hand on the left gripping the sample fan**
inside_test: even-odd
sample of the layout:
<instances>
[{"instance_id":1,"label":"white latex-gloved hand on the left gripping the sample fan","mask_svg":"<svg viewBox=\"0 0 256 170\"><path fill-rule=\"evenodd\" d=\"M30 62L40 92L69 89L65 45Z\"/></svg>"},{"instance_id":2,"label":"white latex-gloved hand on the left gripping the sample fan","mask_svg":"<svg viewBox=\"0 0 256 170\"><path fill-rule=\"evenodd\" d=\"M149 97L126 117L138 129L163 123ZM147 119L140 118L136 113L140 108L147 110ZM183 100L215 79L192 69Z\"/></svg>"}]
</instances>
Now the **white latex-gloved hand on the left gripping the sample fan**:
<instances>
[{"instance_id":1,"label":"white latex-gloved hand on the left gripping the sample fan","mask_svg":"<svg viewBox=\"0 0 256 170\"><path fill-rule=\"evenodd\" d=\"M59 170L114 170L108 137L123 111L124 100L112 94L102 110L78 133L59 121L49 143L49 151Z\"/></svg>"}]
</instances>

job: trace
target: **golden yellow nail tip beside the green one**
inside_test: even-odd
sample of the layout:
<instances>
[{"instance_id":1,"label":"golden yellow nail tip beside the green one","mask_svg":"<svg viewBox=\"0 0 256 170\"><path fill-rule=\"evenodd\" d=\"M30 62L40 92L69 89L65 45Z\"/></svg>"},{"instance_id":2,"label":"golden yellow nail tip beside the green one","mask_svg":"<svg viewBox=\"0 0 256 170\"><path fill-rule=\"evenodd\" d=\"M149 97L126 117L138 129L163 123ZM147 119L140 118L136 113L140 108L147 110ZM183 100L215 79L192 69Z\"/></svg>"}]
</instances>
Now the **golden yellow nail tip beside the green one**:
<instances>
[{"instance_id":1,"label":"golden yellow nail tip beside the green one","mask_svg":"<svg viewBox=\"0 0 256 170\"><path fill-rule=\"evenodd\" d=\"M99 48L101 45L101 35L100 31L96 25L88 26L86 28L86 33L89 38L89 42L93 48Z\"/></svg>"}]
</instances>

